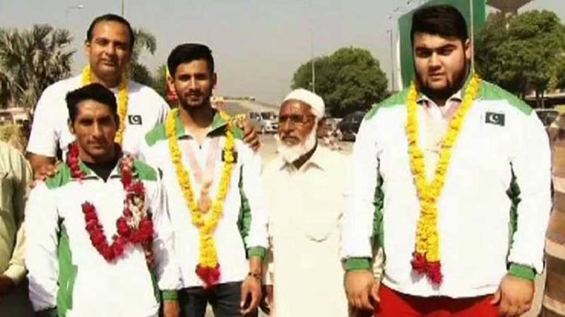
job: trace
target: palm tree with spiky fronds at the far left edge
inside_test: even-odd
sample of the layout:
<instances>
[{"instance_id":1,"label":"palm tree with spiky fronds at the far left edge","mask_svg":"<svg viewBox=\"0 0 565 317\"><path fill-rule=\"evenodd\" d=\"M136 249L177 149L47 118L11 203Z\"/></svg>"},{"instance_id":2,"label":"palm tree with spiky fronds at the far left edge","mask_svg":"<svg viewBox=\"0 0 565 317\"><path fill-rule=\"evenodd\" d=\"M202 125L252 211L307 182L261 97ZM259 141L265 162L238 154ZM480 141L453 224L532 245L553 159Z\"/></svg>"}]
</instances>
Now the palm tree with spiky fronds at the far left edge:
<instances>
[{"instance_id":1,"label":"palm tree with spiky fronds at the far left edge","mask_svg":"<svg viewBox=\"0 0 565 317\"><path fill-rule=\"evenodd\" d=\"M75 51L68 30L0 29L0 104L33 107L48 85L69 77Z\"/></svg>"}]
</instances>

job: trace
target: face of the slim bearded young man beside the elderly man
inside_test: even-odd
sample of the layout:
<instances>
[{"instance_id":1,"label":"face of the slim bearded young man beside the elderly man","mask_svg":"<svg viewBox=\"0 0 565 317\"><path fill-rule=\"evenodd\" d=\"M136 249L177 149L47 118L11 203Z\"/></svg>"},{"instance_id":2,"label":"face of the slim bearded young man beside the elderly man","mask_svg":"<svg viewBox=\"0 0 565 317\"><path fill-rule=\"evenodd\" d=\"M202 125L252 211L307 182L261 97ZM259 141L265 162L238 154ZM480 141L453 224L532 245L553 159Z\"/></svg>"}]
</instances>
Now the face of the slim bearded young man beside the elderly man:
<instances>
[{"instance_id":1,"label":"face of the slim bearded young man beside the elderly man","mask_svg":"<svg viewBox=\"0 0 565 317\"><path fill-rule=\"evenodd\" d=\"M184 109L210 105L216 74L210 73L204 59L179 64L169 80L169 89L176 91Z\"/></svg>"}]
</instances>

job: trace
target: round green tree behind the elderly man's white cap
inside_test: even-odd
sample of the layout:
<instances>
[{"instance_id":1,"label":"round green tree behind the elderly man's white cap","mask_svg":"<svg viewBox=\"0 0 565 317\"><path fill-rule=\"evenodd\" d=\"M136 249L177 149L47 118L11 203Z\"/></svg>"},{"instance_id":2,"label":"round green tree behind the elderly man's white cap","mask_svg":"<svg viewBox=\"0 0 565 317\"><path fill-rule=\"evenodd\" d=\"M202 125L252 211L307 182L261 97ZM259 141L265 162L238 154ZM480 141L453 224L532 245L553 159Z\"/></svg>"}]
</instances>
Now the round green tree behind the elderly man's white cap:
<instances>
[{"instance_id":1,"label":"round green tree behind the elderly man's white cap","mask_svg":"<svg viewBox=\"0 0 565 317\"><path fill-rule=\"evenodd\" d=\"M332 116L368 110L388 92L387 79L379 61L366 49L344 47L330 56L314 58L316 93L326 102ZM312 89L311 61L295 72L292 89Z\"/></svg>"}]
</instances>

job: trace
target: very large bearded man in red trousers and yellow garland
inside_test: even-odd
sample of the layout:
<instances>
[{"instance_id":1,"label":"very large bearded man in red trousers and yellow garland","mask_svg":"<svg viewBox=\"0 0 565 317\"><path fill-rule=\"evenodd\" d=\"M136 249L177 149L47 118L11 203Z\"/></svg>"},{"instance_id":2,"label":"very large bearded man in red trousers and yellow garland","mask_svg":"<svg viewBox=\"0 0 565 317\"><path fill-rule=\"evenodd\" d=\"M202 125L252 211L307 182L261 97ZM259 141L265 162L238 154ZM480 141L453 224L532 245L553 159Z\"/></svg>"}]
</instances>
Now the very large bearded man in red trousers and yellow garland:
<instances>
[{"instance_id":1,"label":"very large bearded man in red trousers and yellow garland","mask_svg":"<svg viewBox=\"0 0 565 317\"><path fill-rule=\"evenodd\" d=\"M347 297L381 317L519 316L543 270L547 134L528 105L473 73L453 6L414 13L412 48L415 84L374 107L355 143ZM378 291L371 241L385 255Z\"/></svg>"}]
</instances>

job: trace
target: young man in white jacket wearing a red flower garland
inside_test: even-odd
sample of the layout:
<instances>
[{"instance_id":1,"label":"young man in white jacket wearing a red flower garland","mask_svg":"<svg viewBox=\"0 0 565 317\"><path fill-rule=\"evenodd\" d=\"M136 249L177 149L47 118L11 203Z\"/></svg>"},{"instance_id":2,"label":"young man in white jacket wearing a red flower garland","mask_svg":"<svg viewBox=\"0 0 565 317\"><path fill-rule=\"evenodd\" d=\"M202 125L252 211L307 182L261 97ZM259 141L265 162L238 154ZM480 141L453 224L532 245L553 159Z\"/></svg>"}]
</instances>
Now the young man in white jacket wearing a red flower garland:
<instances>
[{"instance_id":1,"label":"young man in white jacket wearing a red flower garland","mask_svg":"<svg viewBox=\"0 0 565 317\"><path fill-rule=\"evenodd\" d=\"M38 316L177 316L179 268L160 174L114 143L114 94L66 96L76 143L32 190L26 217L30 299Z\"/></svg>"}]
</instances>

